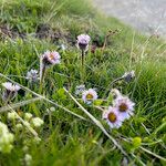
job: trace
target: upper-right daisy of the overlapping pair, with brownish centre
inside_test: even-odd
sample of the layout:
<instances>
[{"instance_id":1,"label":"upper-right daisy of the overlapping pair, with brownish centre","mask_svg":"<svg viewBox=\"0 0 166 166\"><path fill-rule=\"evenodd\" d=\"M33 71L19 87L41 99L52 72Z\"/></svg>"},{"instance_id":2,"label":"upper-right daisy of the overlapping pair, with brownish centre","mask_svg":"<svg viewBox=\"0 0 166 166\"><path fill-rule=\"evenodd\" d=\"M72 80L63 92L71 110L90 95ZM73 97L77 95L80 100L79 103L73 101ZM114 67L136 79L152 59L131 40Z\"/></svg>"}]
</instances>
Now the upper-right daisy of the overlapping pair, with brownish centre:
<instances>
[{"instance_id":1,"label":"upper-right daisy of the overlapping pair, with brownish centre","mask_svg":"<svg viewBox=\"0 0 166 166\"><path fill-rule=\"evenodd\" d=\"M129 118L133 115L135 103L133 103L127 96L116 97L113 105L118 110L122 118Z\"/></svg>"}]
</instances>

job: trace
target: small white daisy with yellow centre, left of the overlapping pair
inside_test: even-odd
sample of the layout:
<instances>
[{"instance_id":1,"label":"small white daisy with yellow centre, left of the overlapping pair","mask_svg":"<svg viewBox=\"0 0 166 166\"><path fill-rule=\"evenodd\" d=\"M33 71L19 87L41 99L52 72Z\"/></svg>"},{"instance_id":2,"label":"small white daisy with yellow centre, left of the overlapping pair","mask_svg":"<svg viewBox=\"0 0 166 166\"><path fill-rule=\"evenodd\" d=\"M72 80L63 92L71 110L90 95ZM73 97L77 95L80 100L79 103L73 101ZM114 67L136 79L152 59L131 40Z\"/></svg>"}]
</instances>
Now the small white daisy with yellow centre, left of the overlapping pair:
<instances>
[{"instance_id":1,"label":"small white daisy with yellow centre, left of the overlapping pair","mask_svg":"<svg viewBox=\"0 0 166 166\"><path fill-rule=\"evenodd\" d=\"M93 89L89 89L87 91L84 91L82 94L82 100L86 104L91 104L96 98L97 98L97 93Z\"/></svg>"}]
</instances>

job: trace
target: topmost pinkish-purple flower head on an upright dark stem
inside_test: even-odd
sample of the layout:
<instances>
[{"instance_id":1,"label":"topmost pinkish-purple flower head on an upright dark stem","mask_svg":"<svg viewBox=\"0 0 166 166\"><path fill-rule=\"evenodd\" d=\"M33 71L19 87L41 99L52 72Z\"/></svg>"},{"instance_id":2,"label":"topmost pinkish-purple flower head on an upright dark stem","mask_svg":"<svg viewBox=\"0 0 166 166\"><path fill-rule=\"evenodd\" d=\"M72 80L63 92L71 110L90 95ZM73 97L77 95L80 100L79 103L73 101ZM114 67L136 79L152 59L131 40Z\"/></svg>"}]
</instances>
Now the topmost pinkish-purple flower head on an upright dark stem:
<instances>
[{"instance_id":1,"label":"topmost pinkish-purple flower head on an upright dark stem","mask_svg":"<svg viewBox=\"0 0 166 166\"><path fill-rule=\"evenodd\" d=\"M90 41L91 41L90 35L87 35L87 34L80 34L80 35L77 35L76 46L80 50L87 51Z\"/></svg>"}]
</instances>

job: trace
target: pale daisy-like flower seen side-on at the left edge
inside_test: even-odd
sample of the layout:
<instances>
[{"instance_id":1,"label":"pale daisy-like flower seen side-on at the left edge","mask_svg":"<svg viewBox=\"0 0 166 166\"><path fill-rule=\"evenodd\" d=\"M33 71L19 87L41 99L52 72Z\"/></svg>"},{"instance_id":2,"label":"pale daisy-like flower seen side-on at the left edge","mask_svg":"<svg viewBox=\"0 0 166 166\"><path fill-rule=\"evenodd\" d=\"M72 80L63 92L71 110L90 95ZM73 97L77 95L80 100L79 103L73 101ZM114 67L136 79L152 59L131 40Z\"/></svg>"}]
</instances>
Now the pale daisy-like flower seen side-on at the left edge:
<instances>
[{"instance_id":1,"label":"pale daisy-like flower seen side-on at the left edge","mask_svg":"<svg viewBox=\"0 0 166 166\"><path fill-rule=\"evenodd\" d=\"M2 86L6 87L6 91L3 92L2 98L6 100L12 100L18 94L18 91L21 89L19 85L14 85L10 82L2 83Z\"/></svg>"}]
</instances>

